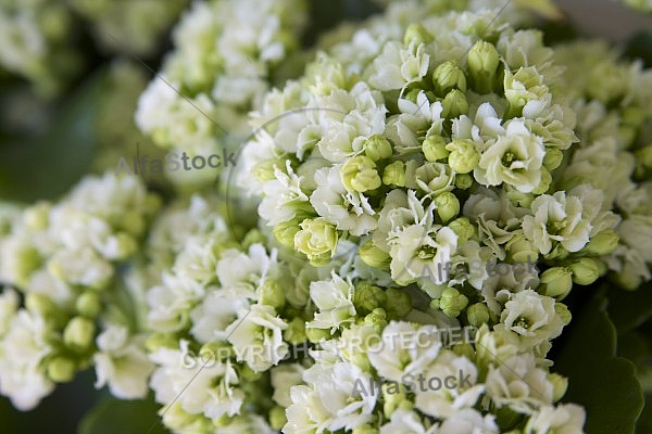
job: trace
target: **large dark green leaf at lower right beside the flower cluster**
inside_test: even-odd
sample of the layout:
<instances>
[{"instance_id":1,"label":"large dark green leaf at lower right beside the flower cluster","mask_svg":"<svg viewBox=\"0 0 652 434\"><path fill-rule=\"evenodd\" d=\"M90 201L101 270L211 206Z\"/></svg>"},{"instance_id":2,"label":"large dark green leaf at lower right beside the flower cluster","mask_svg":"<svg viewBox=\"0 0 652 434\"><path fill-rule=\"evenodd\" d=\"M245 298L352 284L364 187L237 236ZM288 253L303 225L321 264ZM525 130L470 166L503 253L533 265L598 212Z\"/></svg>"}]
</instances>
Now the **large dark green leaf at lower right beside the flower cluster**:
<instances>
[{"instance_id":1,"label":"large dark green leaf at lower right beside the flower cluster","mask_svg":"<svg viewBox=\"0 0 652 434\"><path fill-rule=\"evenodd\" d=\"M555 367L568 378L564 401L582 405L587 411L587 433L631 434L643 394L634 363L616 356L616 329L605 307L600 291L575 316Z\"/></svg>"}]
</instances>

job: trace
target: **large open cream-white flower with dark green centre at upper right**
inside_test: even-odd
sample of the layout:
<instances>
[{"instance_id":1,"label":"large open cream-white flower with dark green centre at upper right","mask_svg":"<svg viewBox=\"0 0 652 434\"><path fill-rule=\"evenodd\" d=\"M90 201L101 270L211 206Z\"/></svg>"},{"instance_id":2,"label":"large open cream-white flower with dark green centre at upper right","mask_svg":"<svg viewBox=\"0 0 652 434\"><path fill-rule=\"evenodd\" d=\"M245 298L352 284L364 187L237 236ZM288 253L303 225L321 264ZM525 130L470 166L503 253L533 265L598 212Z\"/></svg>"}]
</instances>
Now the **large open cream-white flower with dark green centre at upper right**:
<instances>
[{"instance_id":1,"label":"large open cream-white flower with dark green centre at upper right","mask_svg":"<svg viewBox=\"0 0 652 434\"><path fill-rule=\"evenodd\" d=\"M511 120L504 136L480 155L475 179L484 186L513 186L529 193L541 182L546 149L540 137L530 132L523 120Z\"/></svg>"}]
</instances>

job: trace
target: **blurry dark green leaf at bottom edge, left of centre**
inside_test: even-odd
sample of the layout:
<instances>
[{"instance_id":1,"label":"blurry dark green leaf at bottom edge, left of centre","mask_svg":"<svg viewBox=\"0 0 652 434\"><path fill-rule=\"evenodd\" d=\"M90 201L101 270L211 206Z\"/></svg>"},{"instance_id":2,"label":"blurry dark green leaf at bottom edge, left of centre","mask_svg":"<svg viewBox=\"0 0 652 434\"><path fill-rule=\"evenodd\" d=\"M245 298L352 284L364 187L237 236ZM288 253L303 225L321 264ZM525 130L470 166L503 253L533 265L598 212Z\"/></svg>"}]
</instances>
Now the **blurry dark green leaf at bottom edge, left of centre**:
<instances>
[{"instance_id":1,"label":"blurry dark green leaf at bottom edge, left of centre","mask_svg":"<svg viewBox=\"0 0 652 434\"><path fill-rule=\"evenodd\" d=\"M158 410L159 405L151 398L121 400L108 397L84 417L77 434L168 434L159 420Z\"/></svg>"}]
</instances>

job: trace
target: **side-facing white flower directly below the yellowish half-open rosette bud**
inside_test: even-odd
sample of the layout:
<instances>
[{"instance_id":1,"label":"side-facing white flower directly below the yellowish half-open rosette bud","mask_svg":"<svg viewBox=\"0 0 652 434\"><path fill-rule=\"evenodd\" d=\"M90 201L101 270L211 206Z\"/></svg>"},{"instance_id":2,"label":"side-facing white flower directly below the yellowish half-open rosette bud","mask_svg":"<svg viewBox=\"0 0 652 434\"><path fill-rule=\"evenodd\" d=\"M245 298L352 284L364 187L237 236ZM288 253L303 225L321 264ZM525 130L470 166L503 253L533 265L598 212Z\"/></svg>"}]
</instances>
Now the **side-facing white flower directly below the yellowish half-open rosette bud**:
<instances>
[{"instance_id":1,"label":"side-facing white flower directly below the yellowish half-open rosette bud","mask_svg":"<svg viewBox=\"0 0 652 434\"><path fill-rule=\"evenodd\" d=\"M351 279L343 280L335 272L331 272L330 280L312 282L310 297L318 311L306 327L338 329L342 323L352 322L355 318L354 292Z\"/></svg>"}]
</instances>

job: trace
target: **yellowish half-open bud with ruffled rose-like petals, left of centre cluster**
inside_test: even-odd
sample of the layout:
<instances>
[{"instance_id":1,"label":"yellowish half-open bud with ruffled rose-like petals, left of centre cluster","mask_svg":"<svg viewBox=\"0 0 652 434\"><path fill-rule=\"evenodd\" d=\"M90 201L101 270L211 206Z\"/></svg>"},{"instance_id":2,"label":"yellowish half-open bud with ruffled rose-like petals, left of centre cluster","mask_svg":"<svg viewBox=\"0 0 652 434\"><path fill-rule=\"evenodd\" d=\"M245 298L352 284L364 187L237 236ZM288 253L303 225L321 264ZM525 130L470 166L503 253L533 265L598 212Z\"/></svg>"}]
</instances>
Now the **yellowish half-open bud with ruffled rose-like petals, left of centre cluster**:
<instances>
[{"instance_id":1,"label":"yellowish half-open bud with ruffled rose-like petals, left of centre cluster","mask_svg":"<svg viewBox=\"0 0 652 434\"><path fill-rule=\"evenodd\" d=\"M315 267L328 264L337 246L338 234L335 227L324 218L305 219L294 234L294 248L308 256Z\"/></svg>"}]
</instances>

